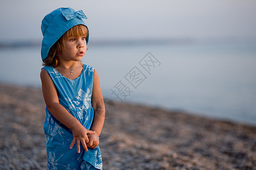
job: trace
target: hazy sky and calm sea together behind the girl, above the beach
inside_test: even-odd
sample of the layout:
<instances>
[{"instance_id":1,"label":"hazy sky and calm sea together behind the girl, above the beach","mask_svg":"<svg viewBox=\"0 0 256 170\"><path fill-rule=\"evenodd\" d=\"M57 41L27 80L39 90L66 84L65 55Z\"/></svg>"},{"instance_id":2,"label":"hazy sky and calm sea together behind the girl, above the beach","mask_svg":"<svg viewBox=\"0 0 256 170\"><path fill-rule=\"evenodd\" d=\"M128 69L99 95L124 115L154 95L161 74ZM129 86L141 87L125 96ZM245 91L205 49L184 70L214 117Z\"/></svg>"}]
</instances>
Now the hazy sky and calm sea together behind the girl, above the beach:
<instances>
[{"instance_id":1,"label":"hazy sky and calm sea together behind the girl, above the beach","mask_svg":"<svg viewBox=\"0 0 256 170\"><path fill-rule=\"evenodd\" d=\"M40 25L58 7L83 10L104 97L256 125L255 1L1 1L0 83L40 88ZM150 52L159 65L139 61ZM134 88L136 66L146 79Z\"/></svg>"}]
</instances>

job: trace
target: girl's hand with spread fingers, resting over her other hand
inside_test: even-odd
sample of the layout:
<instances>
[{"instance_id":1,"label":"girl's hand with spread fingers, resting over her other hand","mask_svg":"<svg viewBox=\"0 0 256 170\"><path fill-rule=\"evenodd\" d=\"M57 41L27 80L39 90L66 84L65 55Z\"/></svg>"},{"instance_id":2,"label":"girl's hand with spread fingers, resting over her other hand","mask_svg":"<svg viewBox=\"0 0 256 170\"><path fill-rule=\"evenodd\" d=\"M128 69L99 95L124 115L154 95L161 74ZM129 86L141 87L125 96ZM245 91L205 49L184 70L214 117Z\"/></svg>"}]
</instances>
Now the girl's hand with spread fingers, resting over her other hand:
<instances>
[{"instance_id":1,"label":"girl's hand with spread fingers, resting over her other hand","mask_svg":"<svg viewBox=\"0 0 256 170\"><path fill-rule=\"evenodd\" d=\"M86 146L86 143L89 142L88 135L95 134L96 131L87 130L81 124L77 124L72 129L72 132L73 132L73 141L71 142L71 145L69 148L72 149L72 147L76 143L77 153L80 153L80 143L81 143L85 151L88 151L88 148Z\"/></svg>"}]
</instances>

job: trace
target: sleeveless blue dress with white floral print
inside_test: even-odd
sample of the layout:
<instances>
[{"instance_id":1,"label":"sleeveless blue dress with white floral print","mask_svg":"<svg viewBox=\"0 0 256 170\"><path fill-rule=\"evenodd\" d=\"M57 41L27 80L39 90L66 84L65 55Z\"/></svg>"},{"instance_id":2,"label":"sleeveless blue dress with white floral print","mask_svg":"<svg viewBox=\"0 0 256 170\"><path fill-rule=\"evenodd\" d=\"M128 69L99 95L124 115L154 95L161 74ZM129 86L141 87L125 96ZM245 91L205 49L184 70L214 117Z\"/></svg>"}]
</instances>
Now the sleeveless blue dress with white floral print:
<instances>
[{"instance_id":1,"label":"sleeveless blue dress with white floral print","mask_svg":"<svg viewBox=\"0 0 256 170\"><path fill-rule=\"evenodd\" d=\"M91 101L93 67L83 65L82 73L73 80L65 78L52 66L44 66L43 69L55 84L59 103L89 130L94 116ZM102 169L100 147L85 151L81 146L80 154L77 154L76 145L69 149L73 140L72 130L52 116L47 107L44 133L47 139L48 169Z\"/></svg>"}]
</instances>

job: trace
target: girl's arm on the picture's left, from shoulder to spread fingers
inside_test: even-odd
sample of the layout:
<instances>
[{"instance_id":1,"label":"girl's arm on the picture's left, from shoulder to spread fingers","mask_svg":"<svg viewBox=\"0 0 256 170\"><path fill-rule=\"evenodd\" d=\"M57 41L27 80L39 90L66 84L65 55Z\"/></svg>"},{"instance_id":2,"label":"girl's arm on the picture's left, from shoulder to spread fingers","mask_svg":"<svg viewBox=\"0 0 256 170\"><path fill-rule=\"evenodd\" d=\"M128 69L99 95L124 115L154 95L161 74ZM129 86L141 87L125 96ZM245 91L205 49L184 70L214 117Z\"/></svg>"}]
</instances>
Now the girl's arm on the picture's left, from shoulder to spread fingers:
<instances>
[{"instance_id":1,"label":"girl's arm on the picture's left, from shoulder to spread fingers","mask_svg":"<svg viewBox=\"0 0 256 170\"><path fill-rule=\"evenodd\" d=\"M82 126L80 122L59 103L56 87L45 69L42 69L40 78L42 81L44 101L46 102L49 112L73 132L71 148L76 143L77 152L80 153L81 143L84 149L87 151L88 149L86 147L86 143L89 142L87 134L94 134L95 132L85 129L84 126Z\"/></svg>"}]
</instances>

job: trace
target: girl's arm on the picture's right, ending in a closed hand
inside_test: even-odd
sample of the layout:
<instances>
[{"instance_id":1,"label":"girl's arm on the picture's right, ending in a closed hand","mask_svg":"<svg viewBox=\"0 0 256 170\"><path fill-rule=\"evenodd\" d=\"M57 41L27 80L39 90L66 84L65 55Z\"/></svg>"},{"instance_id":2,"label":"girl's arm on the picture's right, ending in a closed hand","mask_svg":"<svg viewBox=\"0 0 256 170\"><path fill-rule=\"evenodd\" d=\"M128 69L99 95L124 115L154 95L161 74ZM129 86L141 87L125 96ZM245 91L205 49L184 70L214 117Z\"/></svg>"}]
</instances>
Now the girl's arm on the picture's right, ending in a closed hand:
<instances>
[{"instance_id":1,"label":"girl's arm on the picture's right, ending in a closed hand","mask_svg":"<svg viewBox=\"0 0 256 170\"><path fill-rule=\"evenodd\" d=\"M96 131L97 134L89 135L90 141L87 146L96 148L99 143L98 136L101 134L105 121L105 105L100 87L100 79L96 70L94 70L93 73L92 107L94 110L94 117L92 128L90 128L90 130Z\"/></svg>"}]
</instances>

